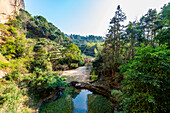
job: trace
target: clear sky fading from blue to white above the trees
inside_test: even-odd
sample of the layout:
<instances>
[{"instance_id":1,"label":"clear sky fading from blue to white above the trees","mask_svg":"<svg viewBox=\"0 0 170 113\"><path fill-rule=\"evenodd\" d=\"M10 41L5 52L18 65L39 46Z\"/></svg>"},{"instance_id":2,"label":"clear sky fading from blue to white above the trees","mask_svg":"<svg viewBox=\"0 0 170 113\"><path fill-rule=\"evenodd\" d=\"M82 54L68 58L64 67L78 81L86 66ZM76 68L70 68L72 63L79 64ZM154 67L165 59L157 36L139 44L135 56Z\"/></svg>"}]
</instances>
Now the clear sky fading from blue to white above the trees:
<instances>
[{"instance_id":1,"label":"clear sky fading from blue to white above the trees","mask_svg":"<svg viewBox=\"0 0 170 113\"><path fill-rule=\"evenodd\" d=\"M118 5L127 16L125 23L140 19L147 11L169 0L24 0L32 16L41 15L65 34L105 36Z\"/></svg>"}]
</instances>

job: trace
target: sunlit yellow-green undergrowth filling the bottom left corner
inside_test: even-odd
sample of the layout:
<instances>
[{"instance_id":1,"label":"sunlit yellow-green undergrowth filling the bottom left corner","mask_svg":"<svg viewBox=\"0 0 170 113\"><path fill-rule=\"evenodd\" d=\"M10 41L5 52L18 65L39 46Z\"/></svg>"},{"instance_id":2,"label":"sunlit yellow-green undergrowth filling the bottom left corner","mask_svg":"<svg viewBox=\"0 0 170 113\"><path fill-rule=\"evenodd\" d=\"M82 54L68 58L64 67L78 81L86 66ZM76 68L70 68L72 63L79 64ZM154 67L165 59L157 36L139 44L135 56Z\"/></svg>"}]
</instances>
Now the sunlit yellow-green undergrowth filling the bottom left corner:
<instances>
[{"instance_id":1,"label":"sunlit yellow-green undergrowth filling the bottom left corner","mask_svg":"<svg viewBox=\"0 0 170 113\"><path fill-rule=\"evenodd\" d=\"M0 113L34 113L39 100L29 93L20 73L0 79ZM8 80L7 80L8 79ZM15 81L15 79L17 81Z\"/></svg>"}]
</instances>

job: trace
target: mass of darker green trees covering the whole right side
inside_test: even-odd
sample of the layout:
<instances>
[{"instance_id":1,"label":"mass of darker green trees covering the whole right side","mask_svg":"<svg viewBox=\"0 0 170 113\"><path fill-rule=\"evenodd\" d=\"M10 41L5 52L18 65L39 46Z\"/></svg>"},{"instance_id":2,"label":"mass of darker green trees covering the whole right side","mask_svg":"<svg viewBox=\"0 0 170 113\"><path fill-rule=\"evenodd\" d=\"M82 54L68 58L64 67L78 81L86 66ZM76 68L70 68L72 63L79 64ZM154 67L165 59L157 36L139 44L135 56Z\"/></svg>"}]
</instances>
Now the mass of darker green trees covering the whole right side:
<instances>
[{"instance_id":1,"label":"mass of darker green trees covering the whole right side","mask_svg":"<svg viewBox=\"0 0 170 113\"><path fill-rule=\"evenodd\" d=\"M109 81L119 111L168 112L169 9L170 3L160 13L149 9L124 26L125 13L117 7L93 68Z\"/></svg>"}]
</instances>

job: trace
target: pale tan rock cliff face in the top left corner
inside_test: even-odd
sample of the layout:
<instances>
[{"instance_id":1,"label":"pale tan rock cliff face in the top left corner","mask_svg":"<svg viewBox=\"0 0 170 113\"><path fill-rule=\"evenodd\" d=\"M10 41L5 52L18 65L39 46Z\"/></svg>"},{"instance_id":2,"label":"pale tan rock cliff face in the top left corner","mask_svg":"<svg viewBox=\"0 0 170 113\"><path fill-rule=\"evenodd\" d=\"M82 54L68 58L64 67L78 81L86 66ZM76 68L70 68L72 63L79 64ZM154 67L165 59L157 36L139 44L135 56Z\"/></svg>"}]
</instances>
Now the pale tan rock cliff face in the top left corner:
<instances>
[{"instance_id":1,"label":"pale tan rock cliff face in the top left corner","mask_svg":"<svg viewBox=\"0 0 170 113\"><path fill-rule=\"evenodd\" d=\"M9 16L19 9L25 9L24 0L0 0L0 23L8 21Z\"/></svg>"}]
</instances>

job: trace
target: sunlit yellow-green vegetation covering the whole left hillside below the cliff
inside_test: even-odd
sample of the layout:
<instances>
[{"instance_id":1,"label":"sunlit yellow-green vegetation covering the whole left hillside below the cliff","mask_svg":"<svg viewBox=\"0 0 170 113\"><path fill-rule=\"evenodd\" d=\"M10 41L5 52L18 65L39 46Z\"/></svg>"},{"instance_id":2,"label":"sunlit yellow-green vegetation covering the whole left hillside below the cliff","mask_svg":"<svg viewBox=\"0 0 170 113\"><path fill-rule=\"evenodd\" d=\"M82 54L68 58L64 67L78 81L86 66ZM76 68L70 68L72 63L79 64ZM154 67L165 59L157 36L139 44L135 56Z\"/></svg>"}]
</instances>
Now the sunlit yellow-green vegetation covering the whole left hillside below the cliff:
<instances>
[{"instance_id":1,"label":"sunlit yellow-green vegetation covering the whole left hillside below the cliff","mask_svg":"<svg viewBox=\"0 0 170 113\"><path fill-rule=\"evenodd\" d=\"M0 112L35 112L40 100L66 86L59 59L69 67L84 64L79 48L42 16L20 10L0 32Z\"/></svg>"}]
</instances>

